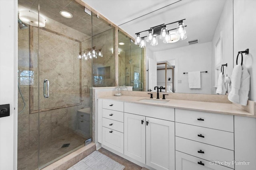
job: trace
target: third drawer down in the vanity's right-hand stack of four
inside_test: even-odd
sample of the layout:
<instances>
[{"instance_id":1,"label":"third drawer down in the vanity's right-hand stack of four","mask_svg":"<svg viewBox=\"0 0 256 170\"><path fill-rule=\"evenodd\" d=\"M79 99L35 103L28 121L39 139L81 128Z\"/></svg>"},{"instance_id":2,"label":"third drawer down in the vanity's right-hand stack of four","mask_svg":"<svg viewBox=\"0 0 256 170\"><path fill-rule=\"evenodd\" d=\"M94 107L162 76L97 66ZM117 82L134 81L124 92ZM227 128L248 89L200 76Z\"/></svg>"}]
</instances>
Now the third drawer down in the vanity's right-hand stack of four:
<instances>
[{"instance_id":1,"label":"third drawer down in the vanity's right-hand stack of four","mask_svg":"<svg viewBox=\"0 0 256 170\"><path fill-rule=\"evenodd\" d=\"M228 167L234 168L234 165L232 164L232 160L234 160L234 151L232 150L214 147L212 145L207 145L180 137L175 137L175 144L176 150L180 152L184 152L208 161L228 161L231 162L230 166ZM204 153L198 153L198 151L202 151Z\"/></svg>"}]
</instances>

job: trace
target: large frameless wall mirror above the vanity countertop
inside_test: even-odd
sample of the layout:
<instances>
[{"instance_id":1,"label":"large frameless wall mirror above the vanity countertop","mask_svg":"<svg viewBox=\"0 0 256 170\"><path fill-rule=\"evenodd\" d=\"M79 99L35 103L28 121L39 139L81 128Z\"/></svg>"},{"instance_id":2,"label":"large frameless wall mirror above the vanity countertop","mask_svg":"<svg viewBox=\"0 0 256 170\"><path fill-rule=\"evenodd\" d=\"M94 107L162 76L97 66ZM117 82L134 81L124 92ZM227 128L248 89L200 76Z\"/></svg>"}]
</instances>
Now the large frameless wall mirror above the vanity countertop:
<instances>
[{"instance_id":1,"label":"large frameless wall mirror above the vanity countertop","mask_svg":"<svg viewBox=\"0 0 256 170\"><path fill-rule=\"evenodd\" d=\"M143 91L154 90L154 86L166 86L166 92L216 94L218 76L222 70L224 76L230 77L233 69L233 1L186 0L170 3L173 4L119 25L120 29L135 37L136 33L156 25L185 19L186 39L163 43L158 35L158 45L152 46L146 42L144 69L147 70L147 78ZM178 22L166 25L166 28L173 29L175 33L177 25ZM140 37L147 35L148 31L140 33ZM166 70L162 71L159 63L166 63ZM221 69L222 64L227 66ZM122 70L125 73L125 69ZM200 88L191 88L188 73L198 71ZM219 94L231 90L229 84L222 87Z\"/></svg>"}]
</instances>

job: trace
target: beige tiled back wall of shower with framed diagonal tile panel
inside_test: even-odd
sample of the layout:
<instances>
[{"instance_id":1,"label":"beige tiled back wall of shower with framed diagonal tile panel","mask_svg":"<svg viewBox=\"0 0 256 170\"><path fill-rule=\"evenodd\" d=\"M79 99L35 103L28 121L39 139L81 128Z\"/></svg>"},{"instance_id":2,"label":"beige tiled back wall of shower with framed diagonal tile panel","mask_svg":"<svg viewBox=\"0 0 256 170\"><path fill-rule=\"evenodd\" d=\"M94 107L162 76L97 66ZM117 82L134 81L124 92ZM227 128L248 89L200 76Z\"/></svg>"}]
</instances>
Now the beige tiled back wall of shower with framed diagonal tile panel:
<instances>
[{"instance_id":1,"label":"beige tiled back wall of shower with framed diagonal tile panel","mask_svg":"<svg viewBox=\"0 0 256 170\"><path fill-rule=\"evenodd\" d=\"M31 27L32 28L32 27ZM54 20L46 21L46 29L56 31L66 37L77 39L84 48L91 47L90 36L80 33ZM31 29L30 29L31 31ZM34 36L32 36L34 35ZM34 107L38 109L38 73L37 49L38 28L18 29L18 70L34 68L33 89ZM29 114L29 85L20 85L20 90L26 102L26 108L18 115L18 150L38 147L38 119L40 126L40 144L47 143L76 129L76 112L78 109L90 107L91 63L80 62L77 55L80 51L79 42L72 41L58 34L40 29L40 109L47 107L63 106L80 102L80 67L82 70L82 105L54 109L39 113ZM89 38L89 39L88 39ZM33 42L32 44L30 42ZM31 54L29 53L31 51ZM31 55L31 59L29 58ZM42 92L43 80L50 80L50 100L45 100ZM58 94L57 94L58 93ZM18 112L24 106L18 94ZM51 100L54 99L54 100ZM45 100L45 101L44 101Z\"/></svg>"}]
</instances>

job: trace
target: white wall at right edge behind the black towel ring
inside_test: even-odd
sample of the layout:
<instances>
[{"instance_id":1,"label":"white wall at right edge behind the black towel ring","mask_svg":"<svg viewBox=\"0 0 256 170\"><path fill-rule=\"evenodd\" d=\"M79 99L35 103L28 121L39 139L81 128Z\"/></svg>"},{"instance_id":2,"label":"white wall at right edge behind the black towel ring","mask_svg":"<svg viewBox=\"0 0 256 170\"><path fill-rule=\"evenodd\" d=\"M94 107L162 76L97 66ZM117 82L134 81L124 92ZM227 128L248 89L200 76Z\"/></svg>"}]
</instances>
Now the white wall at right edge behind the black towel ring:
<instances>
[{"instance_id":1,"label":"white wall at right edge behind the black towel ring","mask_svg":"<svg viewBox=\"0 0 256 170\"><path fill-rule=\"evenodd\" d=\"M256 1L234 0L234 64L238 51L249 49L243 66L250 73L249 100L256 101ZM240 58L239 58L240 59Z\"/></svg>"}]
</instances>

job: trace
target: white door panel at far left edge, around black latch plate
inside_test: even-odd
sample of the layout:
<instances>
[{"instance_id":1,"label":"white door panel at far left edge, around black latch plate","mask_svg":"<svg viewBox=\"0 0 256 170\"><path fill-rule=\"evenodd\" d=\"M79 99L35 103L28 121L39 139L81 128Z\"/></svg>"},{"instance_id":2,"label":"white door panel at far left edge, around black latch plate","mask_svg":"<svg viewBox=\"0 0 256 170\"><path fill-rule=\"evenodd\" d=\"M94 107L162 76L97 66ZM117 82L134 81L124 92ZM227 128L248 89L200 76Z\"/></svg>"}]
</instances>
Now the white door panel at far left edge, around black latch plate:
<instances>
[{"instance_id":1,"label":"white door panel at far left edge, around black latch plate","mask_svg":"<svg viewBox=\"0 0 256 170\"><path fill-rule=\"evenodd\" d=\"M0 118L0 170L17 169L17 16L17 1L0 0L0 104L10 104Z\"/></svg>"}]
</instances>

